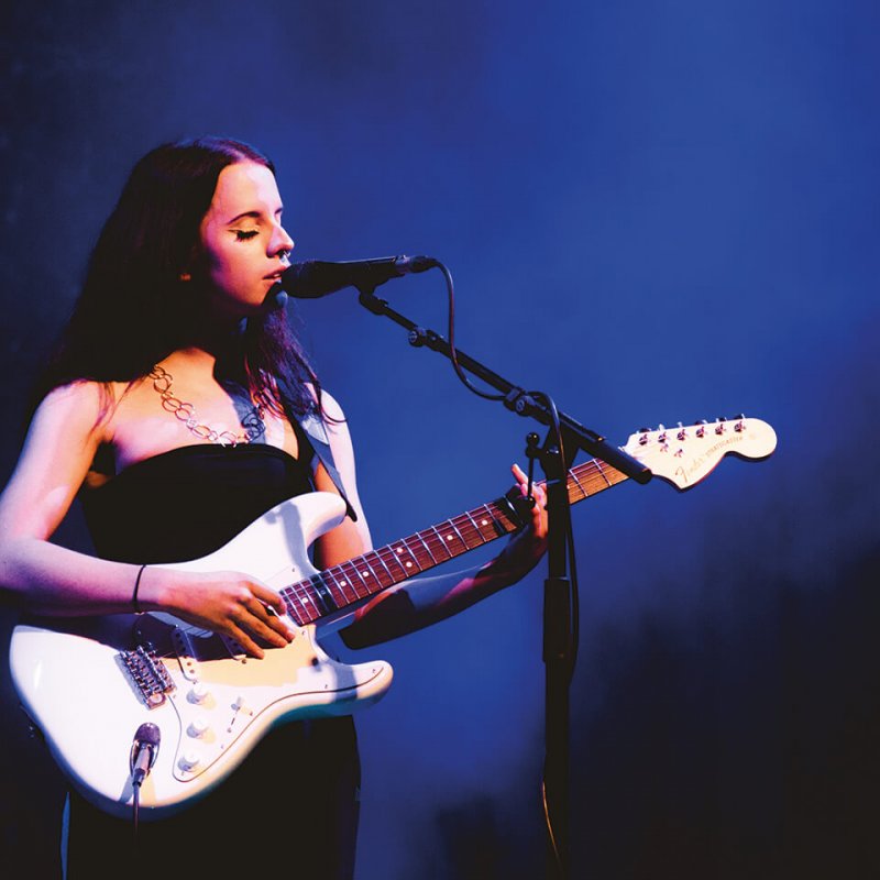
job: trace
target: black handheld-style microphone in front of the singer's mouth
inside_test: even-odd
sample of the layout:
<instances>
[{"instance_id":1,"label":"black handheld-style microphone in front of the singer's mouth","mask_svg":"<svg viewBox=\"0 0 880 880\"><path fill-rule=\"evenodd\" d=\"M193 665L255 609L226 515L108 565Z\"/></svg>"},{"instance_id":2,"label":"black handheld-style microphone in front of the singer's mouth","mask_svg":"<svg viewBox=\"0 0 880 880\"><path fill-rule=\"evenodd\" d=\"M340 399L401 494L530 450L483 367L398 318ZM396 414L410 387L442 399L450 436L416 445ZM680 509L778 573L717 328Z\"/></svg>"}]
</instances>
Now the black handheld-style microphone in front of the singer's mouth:
<instances>
[{"instance_id":1,"label":"black handheld-style microphone in front of the singer's mouth","mask_svg":"<svg viewBox=\"0 0 880 880\"><path fill-rule=\"evenodd\" d=\"M392 278L427 272L439 265L440 263L432 256L380 256L374 260L346 260L341 263L307 260L304 263L292 263L289 268L282 273L280 280L273 292L278 299L285 293L297 299L318 299L343 287L356 287L363 293ZM270 294L272 295L273 293Z\"/></svg>"}]
</instances>

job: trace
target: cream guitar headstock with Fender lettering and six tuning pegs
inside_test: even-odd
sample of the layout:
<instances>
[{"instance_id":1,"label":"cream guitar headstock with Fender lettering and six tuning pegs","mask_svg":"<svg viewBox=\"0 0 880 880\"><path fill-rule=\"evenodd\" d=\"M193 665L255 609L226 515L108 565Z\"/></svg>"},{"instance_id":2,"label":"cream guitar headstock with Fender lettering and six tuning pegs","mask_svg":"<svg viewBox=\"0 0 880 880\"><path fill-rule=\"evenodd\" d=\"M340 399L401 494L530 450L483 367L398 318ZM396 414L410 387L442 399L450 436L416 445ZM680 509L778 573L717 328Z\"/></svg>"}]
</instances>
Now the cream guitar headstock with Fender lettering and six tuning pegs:
<instances>
[{"instance_id":1,"label":"cream guitar headstock with Fender lettering and six tuning pegs","mask_svg":"<svg viewBox=\"0 0 880 880\"><path fill-rule=\"evenodd\" d=\"M725 455L758 461L776 448L776 431L766 421L736 416L637 431L623 449L683 491L707 476Z\"/></svg>"}]
</instances>

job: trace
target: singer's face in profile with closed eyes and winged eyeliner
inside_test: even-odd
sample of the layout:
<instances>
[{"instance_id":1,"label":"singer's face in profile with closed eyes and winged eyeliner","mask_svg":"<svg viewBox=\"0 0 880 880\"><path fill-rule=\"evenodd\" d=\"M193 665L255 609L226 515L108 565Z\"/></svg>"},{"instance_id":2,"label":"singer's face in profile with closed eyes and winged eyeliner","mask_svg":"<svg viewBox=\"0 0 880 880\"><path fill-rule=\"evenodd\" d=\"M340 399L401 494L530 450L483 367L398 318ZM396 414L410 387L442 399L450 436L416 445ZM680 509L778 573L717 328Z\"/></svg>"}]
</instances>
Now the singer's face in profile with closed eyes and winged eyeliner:
<instances>
[{"instance_id":1,"label":"singer's face in profile with closed eyes and winged eyeliner","mask_svg":"<svg viewBox=\"0 0 880 880\"><path fill-rule=\"evenodd\" d=\"M282 227L275 175L254 162L228 165L200 227L202 264L223 315L258 311L294 242Z\"/></svg>"}]
</instances>

